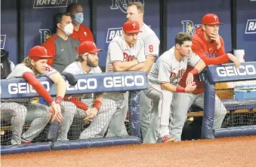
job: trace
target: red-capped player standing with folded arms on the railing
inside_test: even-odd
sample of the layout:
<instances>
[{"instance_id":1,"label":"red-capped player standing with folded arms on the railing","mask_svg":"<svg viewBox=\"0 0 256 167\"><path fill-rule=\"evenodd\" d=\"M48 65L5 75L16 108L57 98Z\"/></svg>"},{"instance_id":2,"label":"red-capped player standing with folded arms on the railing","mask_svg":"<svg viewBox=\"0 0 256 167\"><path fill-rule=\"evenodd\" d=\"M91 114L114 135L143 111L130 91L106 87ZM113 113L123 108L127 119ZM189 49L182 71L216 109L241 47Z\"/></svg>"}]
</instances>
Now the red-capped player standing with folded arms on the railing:
<instances>
[{"instance_id":1,"label":"red-capped player standing with folded arms on the railing","mask_svg":"<svg viewBox=\"0 0 256 167\"><path fill-rule=\"evenodd\" d=\"M127 21L122 26L122 36L110 42L106 57L106 72L111 71L141 71L146 63L144 43L138 38L141 32L139 23ZM109 63L113 69L109 69ZM128 135L125 129L125 117L128 111L128 92L105 93L109 99L116 102L116 113L109 123L106 137Z\"/></svg>"}]
</instances>

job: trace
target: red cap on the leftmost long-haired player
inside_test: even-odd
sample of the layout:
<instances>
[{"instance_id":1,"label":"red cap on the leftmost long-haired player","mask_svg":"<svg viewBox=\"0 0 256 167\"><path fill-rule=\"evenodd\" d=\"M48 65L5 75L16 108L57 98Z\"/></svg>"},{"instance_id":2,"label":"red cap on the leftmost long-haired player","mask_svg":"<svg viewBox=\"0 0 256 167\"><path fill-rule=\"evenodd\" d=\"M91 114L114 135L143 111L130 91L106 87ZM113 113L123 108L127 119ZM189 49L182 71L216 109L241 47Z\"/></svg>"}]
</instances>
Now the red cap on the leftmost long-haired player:
<instances>
[{"instance_id":1,"label":"red cap on the leftmost long-haired player","mask_svg":"<svg viewBox=\"0 0 256 167\"><path fill-rule=\"evenodd\" d=\"M51 56L48 56L47 50L45 47L35 46L29 50L29 58L35 61L39 59L52 59Z\"/></svg>"}]
</instances>

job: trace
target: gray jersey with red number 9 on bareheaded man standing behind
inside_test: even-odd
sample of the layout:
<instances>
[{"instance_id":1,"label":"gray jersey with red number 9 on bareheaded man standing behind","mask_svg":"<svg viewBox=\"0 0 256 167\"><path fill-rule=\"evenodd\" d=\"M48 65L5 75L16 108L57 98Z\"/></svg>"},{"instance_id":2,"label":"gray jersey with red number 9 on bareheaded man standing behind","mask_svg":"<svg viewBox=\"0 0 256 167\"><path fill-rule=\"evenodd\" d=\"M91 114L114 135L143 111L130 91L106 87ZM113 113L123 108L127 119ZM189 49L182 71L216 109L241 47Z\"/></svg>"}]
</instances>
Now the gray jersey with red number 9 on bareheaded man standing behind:
<instances>
[{"instance_id":1,"label":"gray jersey with red number 9 on bareheaded man standing behind","mask_svg":"<svg viewBox=\"0 0 256 167\"><path fill-rule=\"evenodd\" d=\"M150 29L147 24L143 24L142 27L140 27L140 32L138 37L141 38L144 41L145 45L145 56L153 55L158 56L159 55L159 38L156 36L156 33L153 32L152 29Z\"/></svg>"}]
</instances>

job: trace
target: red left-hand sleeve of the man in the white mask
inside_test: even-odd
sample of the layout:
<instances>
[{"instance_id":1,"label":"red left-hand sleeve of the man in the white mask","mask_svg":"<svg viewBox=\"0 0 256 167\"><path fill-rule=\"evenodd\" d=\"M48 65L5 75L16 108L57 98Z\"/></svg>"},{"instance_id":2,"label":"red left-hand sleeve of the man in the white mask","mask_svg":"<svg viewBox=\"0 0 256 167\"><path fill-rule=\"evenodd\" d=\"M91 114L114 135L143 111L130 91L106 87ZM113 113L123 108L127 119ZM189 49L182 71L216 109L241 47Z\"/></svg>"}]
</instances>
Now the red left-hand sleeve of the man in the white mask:
<instances>
[{"instance_id":1,"label":"red left-hand sleeve of the man in the white mask","mask_svg":"<svg viewBox=\"0 0 256 167\"><path fill-rule=\"evenodd\" d=\"M43 42L41 44L42 47L45 47L45 49L47 50L48 56L52 56L53 59L48 59L48 65L52 65L54 63L54 59L56 56L56 49L55 49L55 44L54 41L57 38L56 35L52 35L50 38L48 38L48 40L46 40L45 42Z\"/></svg>"}]
</instances>

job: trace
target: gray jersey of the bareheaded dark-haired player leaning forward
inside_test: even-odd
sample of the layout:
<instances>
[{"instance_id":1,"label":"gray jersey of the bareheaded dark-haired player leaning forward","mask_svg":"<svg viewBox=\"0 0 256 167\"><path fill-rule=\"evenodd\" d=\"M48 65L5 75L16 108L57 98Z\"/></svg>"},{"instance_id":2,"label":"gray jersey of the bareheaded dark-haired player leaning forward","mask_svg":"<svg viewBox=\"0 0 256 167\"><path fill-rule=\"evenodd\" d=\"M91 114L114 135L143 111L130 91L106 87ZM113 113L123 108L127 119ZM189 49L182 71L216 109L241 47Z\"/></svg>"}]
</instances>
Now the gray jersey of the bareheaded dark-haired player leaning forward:
<instances>
[{"instance_id":1,"label":"gray jersey of the bareheaded dark-haired player leaning forward","mask_svg":"<svg viewBox=\"0 0 256 167\"><path fill-rule=\"evenodd\" d=\"M181 61L177 61L174 55L175 47L166 51L159 57L148 76L150 83L171 83L176 85L184 72L187 65L194 66L199 62L200 57L191 52L190 56L184 56Z\"/></svg>"}]
</instances>

